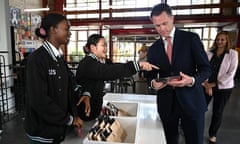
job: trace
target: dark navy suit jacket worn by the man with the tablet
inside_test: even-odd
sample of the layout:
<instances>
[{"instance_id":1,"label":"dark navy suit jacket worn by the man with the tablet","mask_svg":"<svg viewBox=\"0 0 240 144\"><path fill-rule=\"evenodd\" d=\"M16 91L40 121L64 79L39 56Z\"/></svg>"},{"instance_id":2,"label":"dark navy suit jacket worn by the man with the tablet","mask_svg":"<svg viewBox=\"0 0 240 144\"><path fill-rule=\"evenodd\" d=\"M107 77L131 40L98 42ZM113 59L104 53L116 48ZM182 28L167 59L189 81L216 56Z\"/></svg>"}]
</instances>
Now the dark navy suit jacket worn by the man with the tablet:
<instances>
[{"instance_id":1,"label":"dark navy suit jacket worn by the man with the tablet","mask_svg":"<svg viewBox=\"0 0 240 144\"><path fill-rule=\"evenodd\" d=\"M179 75L180 71L195 78L195 84L192 87L172 88L167 86L157 92L158 112L161 117L167 117L171 113L172 106L176 101L190 116L207 110L201 84L210 76L211 67L197 34L176 29L172 65L168 61L164 42L160 38L149 48L148 62L160 67L159 71L149 72L149 80L156 78L157 72L160 77L166 77Z\"/></svg>"}]
</instances>

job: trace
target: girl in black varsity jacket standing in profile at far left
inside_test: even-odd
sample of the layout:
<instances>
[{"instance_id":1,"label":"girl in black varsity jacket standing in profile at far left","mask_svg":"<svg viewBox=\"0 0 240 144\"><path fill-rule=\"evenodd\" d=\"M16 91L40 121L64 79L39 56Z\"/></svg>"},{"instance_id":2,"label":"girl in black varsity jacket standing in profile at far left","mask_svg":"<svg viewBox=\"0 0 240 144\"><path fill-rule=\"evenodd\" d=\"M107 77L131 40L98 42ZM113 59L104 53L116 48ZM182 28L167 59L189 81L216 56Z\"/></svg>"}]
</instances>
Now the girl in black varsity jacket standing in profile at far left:
<instances>
[{"instance_id":1,"label":"girl in black varsity jacket standing in profile at far left","mask_svg":"<svg viewBox=\"0 0 240 144\"><path fill-rule=\"evenodd\" d=\"M26 69L24 128L30 144L60 144L67 126L80 128L83 125L74 111L72 77L60 48L69 42L69 29L65 16L50 13L35 31L45 41L29 55ZM82 101L87 115L90 112L89 98L82 96L79 103Z\"/></svg>"}]
</instances>

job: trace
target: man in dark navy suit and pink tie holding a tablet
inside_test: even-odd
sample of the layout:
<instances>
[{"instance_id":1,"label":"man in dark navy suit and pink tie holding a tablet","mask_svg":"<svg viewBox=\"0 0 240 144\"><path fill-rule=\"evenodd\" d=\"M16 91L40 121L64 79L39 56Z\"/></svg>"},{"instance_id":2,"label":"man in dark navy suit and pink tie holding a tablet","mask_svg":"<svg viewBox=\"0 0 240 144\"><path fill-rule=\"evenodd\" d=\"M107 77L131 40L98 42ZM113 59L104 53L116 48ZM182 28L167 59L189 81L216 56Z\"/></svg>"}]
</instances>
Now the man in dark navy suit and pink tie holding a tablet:
<instances>
[{"instance_id":1,"label":"man in dark navy suit and pink tie holding a tablet","mask_svg":"<svg viewBox=\"0 0 240 144\"><path fill-rule=\"evenodd\" d=\"M207 105L201 84L211 73L203 44L197 34L175 28L172 10L165 3L153 7L151 20L161 38L149 48L148 62L160 69L149 72L148 78L157 90L158 113L167 143L178 144L181 124L186 144L203 144ZM156 79L170 76L179 77Z\"/></svg>"}]
</instances>

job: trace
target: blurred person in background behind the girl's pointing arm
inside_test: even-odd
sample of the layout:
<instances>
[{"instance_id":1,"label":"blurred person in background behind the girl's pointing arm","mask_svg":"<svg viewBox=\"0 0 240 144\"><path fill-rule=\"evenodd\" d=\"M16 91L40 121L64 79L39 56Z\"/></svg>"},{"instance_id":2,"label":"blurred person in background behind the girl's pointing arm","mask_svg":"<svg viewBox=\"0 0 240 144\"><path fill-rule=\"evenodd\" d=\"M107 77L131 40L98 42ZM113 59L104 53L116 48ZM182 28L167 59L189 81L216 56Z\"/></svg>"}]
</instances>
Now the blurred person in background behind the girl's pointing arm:
<instances>
[{"instance_id":1,"label":"blurred person in background behind the girl's pointing arm","mask_svg":"<svg viewBox=\"0 0 240 144\"><path fill-rule=\"evenodd\" d=\"M138 54L139 54L139 60L138 61L139 62L147 61L147 51L148 51L148 48L147 48L146 44L143 44L141 49L138 51ZM140 70L138 72L138 76L139 76L139 78L146 78L146 71Z\"/></svg>"}]
</instances>

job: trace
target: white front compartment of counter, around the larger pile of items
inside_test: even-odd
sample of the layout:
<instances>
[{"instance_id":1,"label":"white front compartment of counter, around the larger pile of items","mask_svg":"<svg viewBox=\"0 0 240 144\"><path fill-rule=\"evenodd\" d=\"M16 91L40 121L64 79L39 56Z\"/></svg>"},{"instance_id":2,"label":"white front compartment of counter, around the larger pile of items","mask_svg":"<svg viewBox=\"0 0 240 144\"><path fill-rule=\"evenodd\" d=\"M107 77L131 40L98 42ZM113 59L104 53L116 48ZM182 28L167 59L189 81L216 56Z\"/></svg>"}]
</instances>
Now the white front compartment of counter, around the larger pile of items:
<instances>
[{"instance_id":1,"label":"white front compartment of counter, around the larger pile of items","mask_svg":"<svg viewBox=\"0 0 240 144\"><path fill-rule=\"evenodd\" d=\"M135 144L136 143L136 131L137 131L137 125L138 120L137 118L131 118L131 117L116 117L116 120L118 120L123 127L123 129L126 132L126 138L123 142L107 142L107 141L93 141L88 140L88 138L84 138L83 144Z\"/></svg>"}]
</instances>

